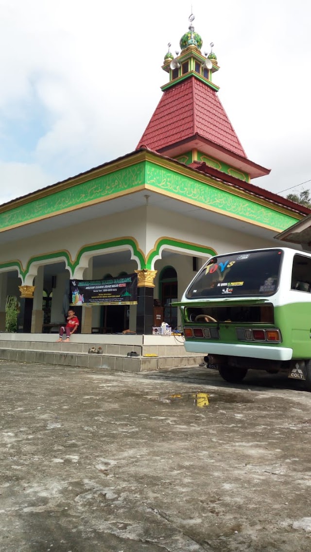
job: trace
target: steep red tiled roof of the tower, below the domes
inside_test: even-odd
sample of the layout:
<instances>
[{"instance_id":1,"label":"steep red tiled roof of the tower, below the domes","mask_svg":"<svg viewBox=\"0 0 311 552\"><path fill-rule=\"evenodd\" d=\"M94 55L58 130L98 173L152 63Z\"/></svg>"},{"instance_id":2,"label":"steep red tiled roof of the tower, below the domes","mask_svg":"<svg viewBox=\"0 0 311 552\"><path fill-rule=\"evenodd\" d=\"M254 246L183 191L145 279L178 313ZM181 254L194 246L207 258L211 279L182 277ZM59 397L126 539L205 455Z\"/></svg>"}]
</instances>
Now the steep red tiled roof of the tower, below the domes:
<instances>
[{"instance_id":1,"label":"steep red tiled roof of the tower, below the domes","mask_svg":"<svg viewBox=\"0 0 311 552\"><path fill-rule=\"evenodd\" d=\"M159 151L196 134L247 158L217 93L189 77L164 92L137 148Z\"/></svg>"}]
</instances>

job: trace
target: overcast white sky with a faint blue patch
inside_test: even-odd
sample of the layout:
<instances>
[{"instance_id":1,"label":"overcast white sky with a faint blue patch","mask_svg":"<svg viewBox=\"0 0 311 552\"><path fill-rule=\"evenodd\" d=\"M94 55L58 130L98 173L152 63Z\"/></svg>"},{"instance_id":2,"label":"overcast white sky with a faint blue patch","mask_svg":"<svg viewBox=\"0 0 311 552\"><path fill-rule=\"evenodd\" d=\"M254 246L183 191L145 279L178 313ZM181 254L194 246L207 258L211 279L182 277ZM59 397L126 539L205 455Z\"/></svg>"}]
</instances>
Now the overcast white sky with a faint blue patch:
<instances>
[{"instance_id":1,"label":"overcast white sky with a faint blue patch","mask_svg":"<svg viewBox=\"0 0 311 552\"><path fill-rule=\"evenodd\" d=\"M191 0L0 9L0 203L133 151ZM247 157L272 169L254 184L278 193L311 179L311 2L192 0L192 10L202 52L214 42L214 82Z\"/></svg>"}]
</instances>

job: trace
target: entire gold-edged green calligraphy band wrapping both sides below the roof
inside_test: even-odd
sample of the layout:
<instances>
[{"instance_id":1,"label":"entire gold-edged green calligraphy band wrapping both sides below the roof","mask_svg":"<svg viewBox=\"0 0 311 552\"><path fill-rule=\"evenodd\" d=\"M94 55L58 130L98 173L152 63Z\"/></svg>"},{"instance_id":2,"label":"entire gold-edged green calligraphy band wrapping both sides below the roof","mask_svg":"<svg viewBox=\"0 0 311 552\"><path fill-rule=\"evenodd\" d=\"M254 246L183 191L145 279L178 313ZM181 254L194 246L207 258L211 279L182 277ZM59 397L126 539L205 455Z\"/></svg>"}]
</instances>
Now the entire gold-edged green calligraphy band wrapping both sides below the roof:
<instances>
[{"instance_id":1,"label":"entire gold-edged green calligraphy band wrapping both sides below the roof","mask_svg":"<svg viewBox=\"0 0 311 552\"><path fill-rule=\"evenodd\" d=\"M70 185L54 193L49 190L49 195L40 195L39 198L19 206L13 207L13 203L12 209L0 212L0 231L78 210L140 189L154 189L157 193L241 218L276 232L286 230L302 218L299 213L289 214L285 207L241 192L225 183L213 181L212 177L198 174L175 161L149 151L143 152L143 155L145 160L141 161L140 152L140 161L136 164L133 162L128 167L116 169L87 182ZM133 158L135 159L134 155Z\"/></svg>"}]
</instances>

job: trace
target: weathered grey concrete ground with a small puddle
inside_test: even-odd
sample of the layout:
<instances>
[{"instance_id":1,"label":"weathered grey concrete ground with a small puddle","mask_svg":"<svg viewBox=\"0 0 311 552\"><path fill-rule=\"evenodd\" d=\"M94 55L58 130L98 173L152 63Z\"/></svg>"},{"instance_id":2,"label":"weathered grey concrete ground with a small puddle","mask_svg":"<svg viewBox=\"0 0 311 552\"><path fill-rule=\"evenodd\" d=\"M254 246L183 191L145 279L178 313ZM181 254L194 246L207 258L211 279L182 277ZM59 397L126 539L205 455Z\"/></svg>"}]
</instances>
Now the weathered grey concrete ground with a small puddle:
<instances>
[{"instance_id":1,"label":"weathered grey concrete ground with a small puddle","mask_svg":"<svg viewBox=\"0 0 311 552\"><path fill-rule=\"evenodd\" d=\"M311 549L297 381L7 361L0 377L1 552Z\"/></svg>"}]
</instances>

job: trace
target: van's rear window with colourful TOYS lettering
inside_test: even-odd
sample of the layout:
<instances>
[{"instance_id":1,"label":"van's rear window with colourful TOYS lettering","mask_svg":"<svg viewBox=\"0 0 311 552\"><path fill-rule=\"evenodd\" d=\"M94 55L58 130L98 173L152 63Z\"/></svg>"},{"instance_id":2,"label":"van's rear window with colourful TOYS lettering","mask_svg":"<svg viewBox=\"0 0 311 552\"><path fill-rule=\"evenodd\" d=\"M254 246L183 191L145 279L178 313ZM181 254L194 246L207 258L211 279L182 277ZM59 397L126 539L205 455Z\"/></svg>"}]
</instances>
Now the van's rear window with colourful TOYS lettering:
<instances>
[{"instance_id":1,"label":"van's rear window with colourful TOYS lettering","mask_svg":"<svg viewBox=\"0 0 311 552\"><path fill-rule=\"evenodd\" d=\"M273 295L278 287L282 257L279 249L212 257L189 286L186 297Z\"/></svg>"}]
</instances>

